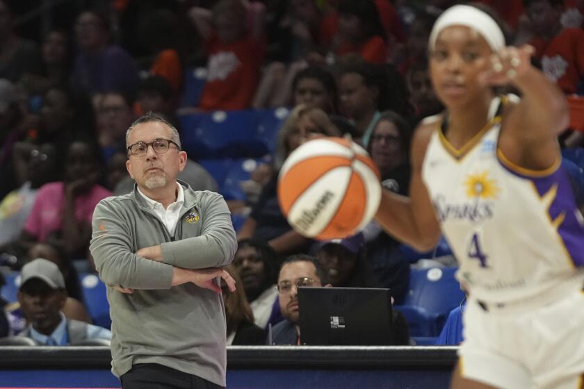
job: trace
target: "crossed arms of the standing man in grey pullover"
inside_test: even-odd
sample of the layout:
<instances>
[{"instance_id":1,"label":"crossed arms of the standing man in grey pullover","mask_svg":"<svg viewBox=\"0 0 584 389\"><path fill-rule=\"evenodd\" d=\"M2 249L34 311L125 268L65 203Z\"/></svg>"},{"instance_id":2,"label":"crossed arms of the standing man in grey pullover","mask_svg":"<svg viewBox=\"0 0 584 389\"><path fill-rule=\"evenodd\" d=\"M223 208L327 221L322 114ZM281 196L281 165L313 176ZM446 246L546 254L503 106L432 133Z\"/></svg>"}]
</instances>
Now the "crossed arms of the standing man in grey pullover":
<instances>
[{"instance_id":1,"label":"crossed arms of the standing man in grey pullover","mask_svg":"<svg viewBox=\"0 0 584 389\"><path fill-rule=\"evenodd\" d=\"M122 201L131 201L130 199ZM104 283L122 292L134 289L168 289L184 283L195 283L202 288L220 292L214 280L221 276L230 290L234 281L222 270L236 250L236 238L227 204L219 195L213 195L200 210L200 236L176 242L144 247L133 252L131 211L122 201L109 198L101 201L94 211L93 236L90 251L99 276ZM123 204L125 206L125 204ZM145 224L145 223L143 223ZM142 226L144 234L154 234L160 228L152 224Z\"/></svg>"}]
</instances>

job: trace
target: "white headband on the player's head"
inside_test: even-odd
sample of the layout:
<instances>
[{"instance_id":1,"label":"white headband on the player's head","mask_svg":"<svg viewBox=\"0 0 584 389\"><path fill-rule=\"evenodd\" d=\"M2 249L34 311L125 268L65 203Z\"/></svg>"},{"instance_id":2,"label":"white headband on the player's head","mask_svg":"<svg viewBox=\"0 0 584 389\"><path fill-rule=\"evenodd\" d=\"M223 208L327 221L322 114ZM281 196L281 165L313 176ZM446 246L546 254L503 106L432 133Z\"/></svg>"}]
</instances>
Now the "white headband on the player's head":
<instances>
[{"instance_id":1,"label":"white headband on the player's head","mask_svg":"<svg viewBox=\"0 0 584 389\"><path fill-rule=\"evenodd\" d=\"M493 51L505 47L503 31L487 13L472 6L453 6L436 20L430 33L429 47L434 49L439 33L446 27L467 26L480 33Z\"/></svg>"}]
</instances>

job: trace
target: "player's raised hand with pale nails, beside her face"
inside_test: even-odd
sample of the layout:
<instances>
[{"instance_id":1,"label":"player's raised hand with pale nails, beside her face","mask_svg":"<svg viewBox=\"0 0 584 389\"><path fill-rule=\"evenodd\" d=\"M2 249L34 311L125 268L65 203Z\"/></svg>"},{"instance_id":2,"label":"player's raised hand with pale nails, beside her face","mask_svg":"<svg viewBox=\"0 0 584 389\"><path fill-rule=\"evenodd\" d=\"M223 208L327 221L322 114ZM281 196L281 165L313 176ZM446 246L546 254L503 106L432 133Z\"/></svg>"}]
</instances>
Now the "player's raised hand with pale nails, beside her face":
<instances>
[{"instance_id":1,"label":"player's raised hand with pale nails, beside her face","mask_svg":"<svg viewBox=\"0 0 584 389\"><path fill-rule=\"evenodd\" d=\"M504 47L489 60L482 60L484 70L478 75L482 85L505 85L521 78L531 67L531 56L535 53L533 46Z\"/></svg>"}]
</instances>

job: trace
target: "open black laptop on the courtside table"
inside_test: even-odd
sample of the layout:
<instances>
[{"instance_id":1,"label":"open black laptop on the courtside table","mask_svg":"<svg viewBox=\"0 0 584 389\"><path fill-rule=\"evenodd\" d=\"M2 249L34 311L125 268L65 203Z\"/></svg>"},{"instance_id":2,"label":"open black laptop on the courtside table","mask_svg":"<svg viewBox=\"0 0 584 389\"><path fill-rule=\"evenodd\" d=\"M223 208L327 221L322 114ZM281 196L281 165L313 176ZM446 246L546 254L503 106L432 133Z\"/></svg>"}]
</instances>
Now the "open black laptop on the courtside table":
<instances>
[{"instance_id":1,"label":"open black laptop on the courtside table","mask_svg":"<svg viewBox=\"0 0 584 389\"><path fill-rule=\"evenodd\" d=\"M381 288L298 288L302 345L393 345L391 294Z\"/></svg>"}]
</instances>

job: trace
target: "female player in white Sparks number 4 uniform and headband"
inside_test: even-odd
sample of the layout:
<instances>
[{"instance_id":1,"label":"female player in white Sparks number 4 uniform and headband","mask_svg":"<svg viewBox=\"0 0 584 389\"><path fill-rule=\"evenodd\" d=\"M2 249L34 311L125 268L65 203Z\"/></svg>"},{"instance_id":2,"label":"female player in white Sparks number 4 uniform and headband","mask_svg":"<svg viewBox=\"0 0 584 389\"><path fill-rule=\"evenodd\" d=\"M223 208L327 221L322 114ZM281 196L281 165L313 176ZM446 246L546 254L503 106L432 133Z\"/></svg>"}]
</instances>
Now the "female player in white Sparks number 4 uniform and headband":
<instances>
[{"instance_id":1,"label":"female player in white Sparks number 4 uniform and headband","mask_svg":"<svg viewBox=\"0 0 584 389\"><path fill-rule=\"evenodd\" d=\"M584 226L560 167L565 98L478 8L446 10L429 49L446 110L416 130L410 197L385 190L376 219L423 251L444 233L460 261L451 388L581 388ZM506 84L522 99L496 96Z\"/></svg>"}]
</instances>

